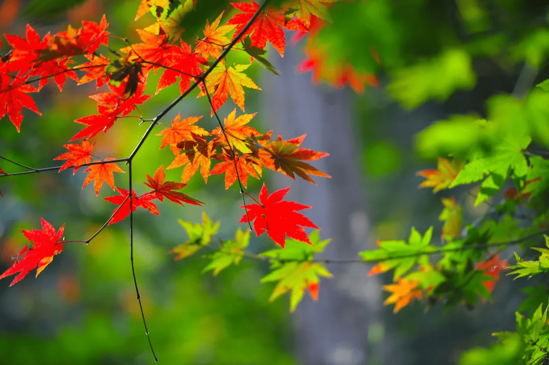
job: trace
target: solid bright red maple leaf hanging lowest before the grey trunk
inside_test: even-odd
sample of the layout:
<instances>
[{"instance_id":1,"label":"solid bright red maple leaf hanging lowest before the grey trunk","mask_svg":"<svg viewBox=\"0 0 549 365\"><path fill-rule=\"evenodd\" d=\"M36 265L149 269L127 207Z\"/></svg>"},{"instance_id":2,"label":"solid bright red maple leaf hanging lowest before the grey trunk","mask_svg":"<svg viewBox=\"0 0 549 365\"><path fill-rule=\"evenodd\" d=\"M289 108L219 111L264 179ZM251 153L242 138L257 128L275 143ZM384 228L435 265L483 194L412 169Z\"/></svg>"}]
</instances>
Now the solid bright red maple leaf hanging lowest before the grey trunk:
<instances>
[{"instance_id":1,"label":"solid bright red maple leaf hanging lowest before the grey trunk","mask_svg":"<svg viewBox=\"0 0 549 365\"><path fill-rule=\"evenodd\" d=\"M254 221L254 230L257 236L267 231L267 235L284 248L285 237L296 239L297 241L311 244L309 237L303 227L311 227L319 229L306 216L301 213L296 213L298 210L311 208L282 200L284 195L290 190L290 187L273 192L268 196L265 183L261 187L259 193L259 201L261 204L249 204L245 206L248 214L244 214L240 218L239 223L248 223ZM240 207L244 208L244 206ZM312 245L312 244L311 244Z\"/></svg>"}]
</instances>

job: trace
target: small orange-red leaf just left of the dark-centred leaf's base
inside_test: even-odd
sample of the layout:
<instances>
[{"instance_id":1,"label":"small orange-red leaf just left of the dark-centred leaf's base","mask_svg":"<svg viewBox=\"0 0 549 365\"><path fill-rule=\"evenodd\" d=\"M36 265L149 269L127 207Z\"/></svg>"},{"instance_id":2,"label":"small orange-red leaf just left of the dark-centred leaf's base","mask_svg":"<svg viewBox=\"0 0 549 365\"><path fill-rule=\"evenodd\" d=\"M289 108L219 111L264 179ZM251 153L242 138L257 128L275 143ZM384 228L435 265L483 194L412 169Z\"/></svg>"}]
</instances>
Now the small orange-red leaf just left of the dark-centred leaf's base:
<instances>
[{"instance_id":1,"label":"small orange-red leaf just left of the dark-centred leaf's base","mask_svg":"<svg viewBox=\"0 0 549 365\"><path fill-rule=\"evenodd\" d=\"M225 174L225 189L229 189L237 181L237 177L240 178L244 187L248 187L248 175L259 179L258 172L261 173L261 166L254 159L250 158L249 155L240 156L235 162L233 161L231 151L228 151L228 153L217 155L216 158L220 159L221 162L214 166L210 175ZM234 167L235 163L238 168L238 176L237 170Z\"/></svg>"}]
</instances>

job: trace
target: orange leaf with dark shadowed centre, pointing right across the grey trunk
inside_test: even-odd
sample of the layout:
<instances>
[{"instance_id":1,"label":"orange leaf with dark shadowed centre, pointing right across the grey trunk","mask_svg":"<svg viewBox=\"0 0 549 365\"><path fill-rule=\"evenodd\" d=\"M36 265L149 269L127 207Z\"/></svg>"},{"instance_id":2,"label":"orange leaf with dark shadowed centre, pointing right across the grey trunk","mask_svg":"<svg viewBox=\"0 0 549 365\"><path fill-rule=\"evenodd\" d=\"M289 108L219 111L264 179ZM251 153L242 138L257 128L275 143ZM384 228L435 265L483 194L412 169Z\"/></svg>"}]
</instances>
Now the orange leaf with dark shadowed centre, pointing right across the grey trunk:
<instances>
[{"instance_id":1,"label":"orange leaf with dark shadowed centre, pointing right across the grey trunk","mask_svg":"<svg viewBox=\"0 0 549 365\"><path fill-rule=\"evenodd\" d=\"M310 183L316 184L309 175L323 176L330 178L330 175L312 167L303 161L315 161L318 158L326 157L329 153L318 152L309 149L299 149L304 140L305 134L299 137L283 141L278 135L276 141L266 144L259 150L259 158L265 167L283 173L295 180L295 175ZM295 174L295 175L294 175Z\"/></svg>"}]
</instances>

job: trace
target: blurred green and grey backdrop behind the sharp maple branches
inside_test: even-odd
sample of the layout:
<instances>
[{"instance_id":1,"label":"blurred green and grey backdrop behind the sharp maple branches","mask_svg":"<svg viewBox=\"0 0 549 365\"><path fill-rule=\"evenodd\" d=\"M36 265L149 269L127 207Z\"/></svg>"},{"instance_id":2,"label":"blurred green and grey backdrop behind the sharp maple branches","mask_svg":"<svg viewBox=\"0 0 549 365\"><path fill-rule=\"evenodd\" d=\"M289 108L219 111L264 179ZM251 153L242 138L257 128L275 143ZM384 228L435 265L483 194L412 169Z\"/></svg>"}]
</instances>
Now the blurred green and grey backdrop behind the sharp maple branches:
<instances>
[{"instance_id":1,"label":"blurred green and grey backdrop behind the sharp maple branches","mask_svg":"<svg viewBox=\"0 0 549 365\"><path fill-rule=\"evenodd\" d=\"M0 32L23 36L28 23L42 36L67 24L77 27L81 20L99 21L106 14L111 34L137 41L135 28L153 19L133 21L138 3L3 0ZM208 4L203 9L213 14L210 21L219 9L226 9L226 16L232 11L228 2L200 3ZM547 4L368 0L335 4L331 10L334 23L319 35L331 42L330 62L342 55L358 70L376 73L379 85L359 95L311 82L309 73L296 72L305 58L306 40L288 44L283 59L268 54L281 76L251 66L250 76L263 89L246 95L247 112L258 112L254 127L272 129L284 139L306 133L302 146L330 153L315 166L332 179L315 179L314 186L265 172L270 191L292 186L290 200L313 207L306 215L322 227L321 238L332 238L326 258L356 258L378 239L407 237L412 226L424 232L434 225L434 237L439 237L440 199L450 195L417 189L422 179L416 172L434 168L438 152L418 133L457 113L485 116L491 96L520 98L548 78ZM192 29L183 38L193 38ZM111 42L113 47L123 45ZM373 60L372 49L380 64ZM229 62L246 61L247 56L233 56ZM157 78L149 75L149 94ZM26 112L21 133L6 118L0 121L0 155L31 167L54 166L53 157L66 151L63 144L79 130L74 119L96 112L96 102L87 98L95 93L93 83L76 87L69 81L63 93L49 84L38 99L43 116ZM150 99L142 108L145 117L156 115L177 95L174 86ZM201 125L214 128L207 101L194 96L169 117L178 112L205 115ZM228 101L221 115L233 108ZM145 128L131 119L117 123L107 135L94 138L94 152L128 156ZM159 142L160 137L150 136L134 160L138 193L145 174L172 161L170 151L159 150ZM5 162L2 168L16 171ZM36 229L41 217L55 227L65 224L66 239L86 238L108 218L113 206L102 197L114 193L104 187L97 198L91 186L81 189L83 175L70 171L0 181L3 267L12 264L12 256L25 244L19 230ZM167 178L177 181L180 174L180 169L169 170ZM116 183L127 186L127 174L118 174ZM249 184L255 193L261 186L255 179ZM242 214L238 189L223 187L223 176L210 176L205 185L196 175L186 193L205 201L204 207L166 203L160 204L159 216L135 215L137 281L163 363L457 364L464 350L494 342L492 332L514 328L513 313L522 300L520 282L505 277L496 285L492 303L451 310L436 305L428 312L416 303L394 315L382 305L382 284L390 277L369 277L365 264L330 264L334 277L321 280L318 303L306 296L290 315L287 297L267 302L273 285L259 282L268 270L265 263L244 259L214 277L201 273L208 261L200 255L174 261L169 250L187 240L180 219L198 223L204 211L220 221L221 238L233 236L238 226L244 229L236 223ZM474 207L470 191L452 193L463 204L468 222L490 211L490 201ZM132 282L128 227L128 221L110 226L88 246L66 244L37 278L28 275L11 288L9 280L0 282L0 363L153 362ZM250 249L267 248L272 242L252 239Z\"/></svg>"}]
</instances>

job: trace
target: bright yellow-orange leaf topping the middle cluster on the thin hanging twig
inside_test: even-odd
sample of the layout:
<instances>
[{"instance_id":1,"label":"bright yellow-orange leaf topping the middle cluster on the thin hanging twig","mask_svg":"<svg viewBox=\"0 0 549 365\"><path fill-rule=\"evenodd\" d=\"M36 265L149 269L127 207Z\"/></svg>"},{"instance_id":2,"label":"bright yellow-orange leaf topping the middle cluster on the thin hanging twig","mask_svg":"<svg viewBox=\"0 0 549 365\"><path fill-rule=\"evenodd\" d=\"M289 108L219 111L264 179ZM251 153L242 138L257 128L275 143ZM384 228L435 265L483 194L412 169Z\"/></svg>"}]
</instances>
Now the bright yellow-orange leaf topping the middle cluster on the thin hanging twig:
<instances>
[{"instance_id":1,"label":"bright yellow-orange leaf topping the middle cluster on the thin hanging twig","mask_svg":"<svg viewBox=\"0 0 549 365\"><path fill-rule=\"evenodd\" d=\"M225 146L230 145L237 149L240 152L251 153L250 147L248 146L247 139L251 136L259 137L261 133L253 127L247 126L251 119L257 114L243 114L239 117L236 117L237 110L233 111L225 118L223 121L225 123L225 134L221 131L221 127L217 127L211 131L212 135L216 135L215 140L220 141ZM227 141L228 139L228 141Z\"/></svg>"}]
</instances>

